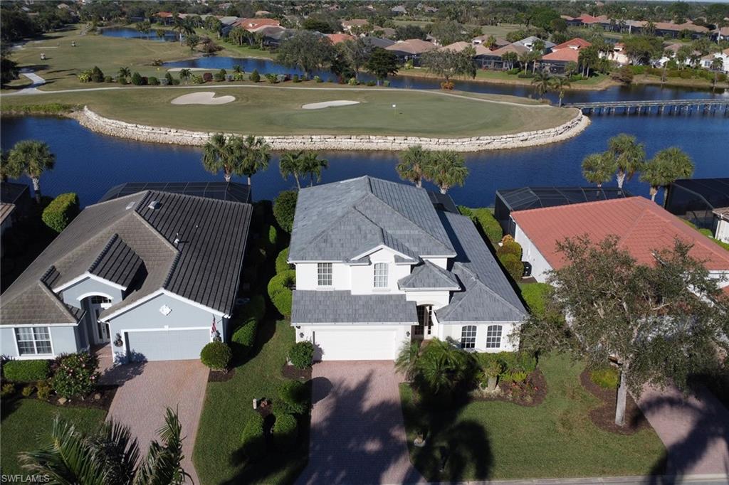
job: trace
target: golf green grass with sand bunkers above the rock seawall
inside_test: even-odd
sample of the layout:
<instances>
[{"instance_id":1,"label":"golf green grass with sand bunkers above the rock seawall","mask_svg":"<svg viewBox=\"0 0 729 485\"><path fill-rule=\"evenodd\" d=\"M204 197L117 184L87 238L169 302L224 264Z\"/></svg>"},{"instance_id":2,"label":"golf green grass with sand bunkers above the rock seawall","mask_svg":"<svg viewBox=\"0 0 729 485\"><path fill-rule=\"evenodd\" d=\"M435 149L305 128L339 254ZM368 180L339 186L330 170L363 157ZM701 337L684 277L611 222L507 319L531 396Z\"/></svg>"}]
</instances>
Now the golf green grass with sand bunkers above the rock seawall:
<instances>
[{"instance_id":1,"label":"golf green grass with sand bunkers above the rock seawall","mask_svg":"<svg viewBox=\"0 0 729 485\"><path fill-rule=\"evenodd\" d=\"M225 87L225 89L223 88ZM278 86L278 85L277 85ZM332 85L329 84L331 87ZM312 89L289 89L311 87ZM224 105L173 105L171 100L193 91L233 95ZM500 135L554 127L572 119L577 111L536 103L524 98L437 91L378 90L375 87L331 89L322 84L268 83L233 87L225 82L191 86L125 88L106 91L12 96L4 108L25 103L87 104L98 114L126 122L187 130L225 130L256 135L351 134L424 135L464 137ZM361 104L305 110L305 103L356 100ZM483 102L504 100L515 104ZM392 105L396 104L397 109ZM530 106L531 105L531 106Z\"/></svg>"}]
</instances>

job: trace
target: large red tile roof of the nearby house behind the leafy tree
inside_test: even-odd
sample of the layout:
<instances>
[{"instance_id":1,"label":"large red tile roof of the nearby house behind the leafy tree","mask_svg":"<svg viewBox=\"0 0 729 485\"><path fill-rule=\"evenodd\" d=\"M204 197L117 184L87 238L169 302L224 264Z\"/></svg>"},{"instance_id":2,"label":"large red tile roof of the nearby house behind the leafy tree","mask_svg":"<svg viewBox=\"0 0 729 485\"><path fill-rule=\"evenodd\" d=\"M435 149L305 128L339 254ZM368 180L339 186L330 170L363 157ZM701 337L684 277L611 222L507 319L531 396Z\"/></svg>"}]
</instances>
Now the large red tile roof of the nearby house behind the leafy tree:
<instances>
[{"instance_id":1,"label":"large red tile roof of the nearby house behind the leafy tree","mask_svg":"<svg viewBox=\"0 0 729 485\"><path fill-rule=\"evenodd\" d=\"M693 244L690 254L706 261L706 269L729 270L729 251L643 197L517 210L511 216L553 269L565 263L558 241L588 234L599 242L615 234L639 264L655 264L653 252L673 248L678 238Z\"/></svg>"}]
</instances>

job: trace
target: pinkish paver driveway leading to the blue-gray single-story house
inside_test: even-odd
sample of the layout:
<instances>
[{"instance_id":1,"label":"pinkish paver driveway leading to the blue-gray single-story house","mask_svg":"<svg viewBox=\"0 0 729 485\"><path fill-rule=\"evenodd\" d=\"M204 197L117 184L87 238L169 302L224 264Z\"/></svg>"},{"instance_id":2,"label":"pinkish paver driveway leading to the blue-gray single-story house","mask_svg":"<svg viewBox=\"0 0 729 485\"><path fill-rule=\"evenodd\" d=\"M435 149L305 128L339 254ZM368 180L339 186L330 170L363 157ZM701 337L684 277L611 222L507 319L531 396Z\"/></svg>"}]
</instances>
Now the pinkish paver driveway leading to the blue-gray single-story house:
<instances>
[{"instance_id":1,"label":"pinkish paver driveway leading to the blue-gray single-story house","mask_svg":"<svg viewBox=\"0 0 729 485\"><path fill-rule=\"evenodd\" d=\"M117 379L117 375L120 378ZM149 442L160 439L157 430L165 424L165 408L177 409L185 437L182 466L195 484L199 484L198 474L192 466L192 448L205 401L208 368L200 360L129 364L102 376L102 381L114 380L124 382L114 396L109 418L131 428L139 440L142 457L147 454Z\"/></svg>"}]
</instances>

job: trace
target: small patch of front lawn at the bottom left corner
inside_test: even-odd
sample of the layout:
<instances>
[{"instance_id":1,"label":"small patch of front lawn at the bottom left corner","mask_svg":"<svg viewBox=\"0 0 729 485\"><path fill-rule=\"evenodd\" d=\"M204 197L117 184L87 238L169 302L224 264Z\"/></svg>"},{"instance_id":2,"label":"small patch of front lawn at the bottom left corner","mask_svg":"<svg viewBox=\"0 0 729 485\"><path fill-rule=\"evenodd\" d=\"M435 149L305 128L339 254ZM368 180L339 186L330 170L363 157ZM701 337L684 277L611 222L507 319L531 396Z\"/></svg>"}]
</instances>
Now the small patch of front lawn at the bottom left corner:
<instances>
[{"instance_id":1,"label":"small patch of front lawn at the bottom left corner","mask_svg":"<svg viewBox=\"0 0 729 485\"><path fill-rule=\"evenodd\" d=\"M44 443L50 437L57 414L85 433L95 430L106 418L106 411L101 409L53 406L37 399L3 399L0 454L4 476L27 474L21 468L17 454L30 452Z\"/></svg>"}]
</instances>

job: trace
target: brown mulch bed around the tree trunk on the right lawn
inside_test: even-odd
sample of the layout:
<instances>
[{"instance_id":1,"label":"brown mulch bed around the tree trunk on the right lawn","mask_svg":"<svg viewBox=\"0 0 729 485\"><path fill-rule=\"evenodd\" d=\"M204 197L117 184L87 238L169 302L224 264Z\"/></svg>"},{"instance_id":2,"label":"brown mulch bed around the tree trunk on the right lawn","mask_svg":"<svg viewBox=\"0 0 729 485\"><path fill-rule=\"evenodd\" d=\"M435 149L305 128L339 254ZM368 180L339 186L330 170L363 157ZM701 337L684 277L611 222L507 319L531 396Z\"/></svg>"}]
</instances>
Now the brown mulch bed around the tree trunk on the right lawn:
<instances>
[{"instance_id":1,"label":"brown mulch bed around the tree trunk on the right lawn","mask_svg":"<svg viewBox=\"0 0 729 485\"><path fill-rule=\"evenodd\" d=\"M580 384L582 384L582 387L588 393L603 401L602 406L590 411L590 419L601 430L618 435L633 435L644 428L650 427L648 420L645 419L642 411L630 394L628 394L628 398L625 401L625 426L620 427L615 424L617 391L605 389L592 382L588 369L585 369L580 374Z\"/></svg>"}]
</instances>

